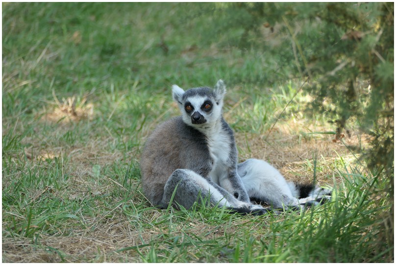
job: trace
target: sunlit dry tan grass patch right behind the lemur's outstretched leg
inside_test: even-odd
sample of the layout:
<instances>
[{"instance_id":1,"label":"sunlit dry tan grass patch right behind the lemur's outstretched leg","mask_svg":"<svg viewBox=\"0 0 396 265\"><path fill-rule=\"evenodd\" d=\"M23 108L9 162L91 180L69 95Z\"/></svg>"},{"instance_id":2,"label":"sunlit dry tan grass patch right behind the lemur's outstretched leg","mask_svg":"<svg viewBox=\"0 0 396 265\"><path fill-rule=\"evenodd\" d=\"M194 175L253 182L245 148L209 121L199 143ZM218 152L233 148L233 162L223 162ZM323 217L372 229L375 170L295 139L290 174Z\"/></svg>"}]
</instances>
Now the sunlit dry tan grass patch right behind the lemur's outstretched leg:
<instances>
[{"instance_id":1,"label":"sunlit dry tan grass patch right behind the lemur's outstretched leg","mask_svg":"<svg viewBox=\"0 0 396 265\"><path fill-rule=\"evenodd\" d=\"M351 133L343 138L342 142L335 140L335 135L304 135L303 133L334 130L329 125L306 124L310 123L305 120L288 120L276 123L271 132L262 135L236 135L237 145L242 150L240 160L263 159L288 180L310 182L313 179L313 171L307 171L307 164L313 164L314 159L317 159L317 166L324 169L316 172L317 180L332 185L334 161L340 157L356 160L346 145L365 147L369 138Z\"/></svg>"}]
</instances>

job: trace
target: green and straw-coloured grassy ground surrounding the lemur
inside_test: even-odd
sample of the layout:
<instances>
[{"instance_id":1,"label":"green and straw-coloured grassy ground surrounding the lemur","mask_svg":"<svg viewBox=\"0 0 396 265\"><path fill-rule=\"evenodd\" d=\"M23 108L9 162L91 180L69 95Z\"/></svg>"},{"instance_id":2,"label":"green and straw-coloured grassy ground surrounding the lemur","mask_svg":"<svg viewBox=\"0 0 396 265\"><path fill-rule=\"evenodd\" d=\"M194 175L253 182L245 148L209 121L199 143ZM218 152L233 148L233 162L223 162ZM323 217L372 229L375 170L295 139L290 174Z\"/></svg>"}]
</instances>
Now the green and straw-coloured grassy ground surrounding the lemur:
<instances>
[{"instance_id":1,"label":"green and straw-coloured grassy ground surrounding the lemur","mask_svg":"<svg viewBox=\"0 0 396 265\"><path fill-rule=\"evenodd\" d=\"M234 48L243 28L223 32L213 7L3 4L3 262L392 261L388 206L371 195L383 184L346 147L367 138L334 143L324 116L301 112L304 80L277 53ZM331 203L265 217L150 207L139 158L178 115L171 84L219 78L240 159L334 186Z\"/></svg>"}]
</instances>

